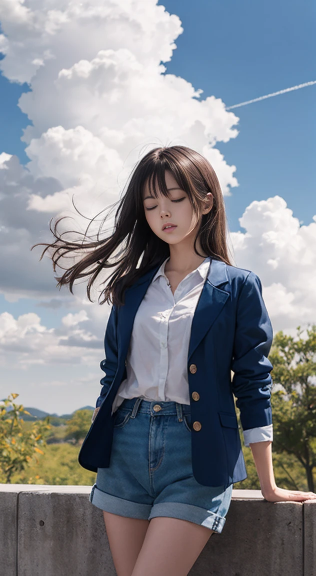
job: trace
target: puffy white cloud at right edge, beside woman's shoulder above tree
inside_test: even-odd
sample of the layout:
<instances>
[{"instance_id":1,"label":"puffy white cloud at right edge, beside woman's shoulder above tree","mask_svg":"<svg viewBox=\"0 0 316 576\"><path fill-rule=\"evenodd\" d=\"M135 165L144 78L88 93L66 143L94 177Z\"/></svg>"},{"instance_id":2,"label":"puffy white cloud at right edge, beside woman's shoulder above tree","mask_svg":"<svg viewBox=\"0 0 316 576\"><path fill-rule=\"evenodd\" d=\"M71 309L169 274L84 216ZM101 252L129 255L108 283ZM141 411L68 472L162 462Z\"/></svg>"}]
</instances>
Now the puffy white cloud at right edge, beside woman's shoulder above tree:
<instances>
[{"instance_id":1,"label":"puffy white cloud at right edge, beside woman's shoulder above tree","mask_svg":"<svg viewBox=\"0 0 316 576\"><path fill-rule=\"evenodd\" d=\"M245 233L233 232L237 265L256 272L273 328L316 323L316 215L301 226L281 196L252 202L239 218Z\"/></svg>"}]
</instances>

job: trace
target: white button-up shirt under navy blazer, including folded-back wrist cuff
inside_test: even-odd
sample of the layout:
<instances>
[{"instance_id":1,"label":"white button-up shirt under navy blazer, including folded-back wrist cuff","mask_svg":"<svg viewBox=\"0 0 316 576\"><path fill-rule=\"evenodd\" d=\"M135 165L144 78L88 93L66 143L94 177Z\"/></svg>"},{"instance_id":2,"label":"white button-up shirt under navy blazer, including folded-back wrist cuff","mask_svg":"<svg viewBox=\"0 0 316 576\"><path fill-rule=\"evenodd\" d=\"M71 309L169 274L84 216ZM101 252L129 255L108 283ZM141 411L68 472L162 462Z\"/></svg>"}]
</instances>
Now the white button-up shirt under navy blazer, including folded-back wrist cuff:
<instances>
[{"instance_id":1,"label":"white button-up shirt under navy blazer, including folded-back wrist cuff","mask_svg":"<svg viewBox=\"0 0 316 576\"><path fill-rule=\"evenodd\" d=\"M161 264L135 314L127 354L127 378L112 404L125 398L190 404L187 373L191 325L210 266L206 257L178 284L174 294ZM245 445L272 440L272 424L243 431Z\"/></svg>"}]
</instances>

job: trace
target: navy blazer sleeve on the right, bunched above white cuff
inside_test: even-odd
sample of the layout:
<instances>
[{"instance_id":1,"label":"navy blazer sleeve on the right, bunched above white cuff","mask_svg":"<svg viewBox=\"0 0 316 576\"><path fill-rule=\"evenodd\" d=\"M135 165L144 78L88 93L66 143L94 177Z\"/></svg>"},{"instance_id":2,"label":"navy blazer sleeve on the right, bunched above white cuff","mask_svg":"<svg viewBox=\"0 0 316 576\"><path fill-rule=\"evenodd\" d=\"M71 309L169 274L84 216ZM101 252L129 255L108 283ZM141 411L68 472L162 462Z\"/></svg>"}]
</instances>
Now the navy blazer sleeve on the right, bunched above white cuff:
<instances>
[{"instance_id":1,"label":"navy blazer sleeve on the right, bunched above white cuff","mask_svg":"<svg viewBox=\"0 0 316 576\"><path fill-rule=\"evenodd\" d=\"M231 370L236 406L243 430L272 424L271 391L273 366L268 360L273 329L260 278L249 272L237 302Z\"/></svg>"}]
</instances>

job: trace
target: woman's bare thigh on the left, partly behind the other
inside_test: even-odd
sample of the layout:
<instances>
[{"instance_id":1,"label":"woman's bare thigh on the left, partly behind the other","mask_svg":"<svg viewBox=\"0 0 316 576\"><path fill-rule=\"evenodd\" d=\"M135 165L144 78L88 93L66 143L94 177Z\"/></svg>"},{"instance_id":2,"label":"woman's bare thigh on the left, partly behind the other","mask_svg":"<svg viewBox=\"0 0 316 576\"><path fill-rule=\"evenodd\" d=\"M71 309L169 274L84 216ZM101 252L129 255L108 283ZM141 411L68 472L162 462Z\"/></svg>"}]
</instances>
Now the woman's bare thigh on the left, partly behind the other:
<instances>
[{"instance_id":1,"label":"woman's bare thigh on the left, partly behind the other","mask_svg":"<svg viewBox=\"0 0 316 576\"><path fill-rule=\"evenodd\" d=\"M106 511L103 516L117 576L131 576L149 520L126 518Z\"/></svg>"}]
</instances>

